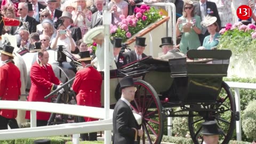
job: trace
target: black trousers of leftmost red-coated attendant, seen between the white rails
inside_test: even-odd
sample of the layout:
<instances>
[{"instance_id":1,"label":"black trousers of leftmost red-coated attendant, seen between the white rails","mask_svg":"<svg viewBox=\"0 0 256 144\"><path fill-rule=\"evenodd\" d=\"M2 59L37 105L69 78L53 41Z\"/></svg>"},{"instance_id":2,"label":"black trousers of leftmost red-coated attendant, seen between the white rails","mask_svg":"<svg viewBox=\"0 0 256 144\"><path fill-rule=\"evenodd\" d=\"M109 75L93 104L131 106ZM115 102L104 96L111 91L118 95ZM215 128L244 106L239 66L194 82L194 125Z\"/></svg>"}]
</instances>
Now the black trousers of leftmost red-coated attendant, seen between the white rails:
<instances>
[{"instance_id":1,"label":"black trousers of leftmost red-coated attendant, seen between the white rails","mask_svg":"<svg viewBox=\"0 0 256 144\"><path fill-rule=\"evenodd\" d=\"M0 115L0 130L7 130L9 125L11 129L19 129L19 125L15 118L5 118Z\"/></svg>"}]
</instances>

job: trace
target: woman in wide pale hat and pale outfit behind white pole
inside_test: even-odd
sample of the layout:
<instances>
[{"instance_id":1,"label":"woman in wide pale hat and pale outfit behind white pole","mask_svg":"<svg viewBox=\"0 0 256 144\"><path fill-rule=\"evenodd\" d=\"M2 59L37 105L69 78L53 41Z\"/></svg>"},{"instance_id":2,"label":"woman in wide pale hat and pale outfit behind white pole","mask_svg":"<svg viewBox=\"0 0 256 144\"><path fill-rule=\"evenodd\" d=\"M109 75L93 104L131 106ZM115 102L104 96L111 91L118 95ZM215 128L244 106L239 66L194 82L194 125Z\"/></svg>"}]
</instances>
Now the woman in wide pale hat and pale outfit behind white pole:
<instances>
[{"instance_id":1,"label":"woman in wide pale hat and pale outfit behind white pole","mask_svg":"<svg viewBox=\"0 0 256 144\"><path fill-rule=\"evenodd\" d=\"M83 37L84 42L86 44L89 43L97 43L97 50L95 51L96 58L92 61L92 65L94 63L97 65L98 71L104 70L104 27L99 26L90 29ZM116 63L114 60L114 50L113 45L109 43L109 66L110 69L116 69Z\"/></svg>"}]
</instances>

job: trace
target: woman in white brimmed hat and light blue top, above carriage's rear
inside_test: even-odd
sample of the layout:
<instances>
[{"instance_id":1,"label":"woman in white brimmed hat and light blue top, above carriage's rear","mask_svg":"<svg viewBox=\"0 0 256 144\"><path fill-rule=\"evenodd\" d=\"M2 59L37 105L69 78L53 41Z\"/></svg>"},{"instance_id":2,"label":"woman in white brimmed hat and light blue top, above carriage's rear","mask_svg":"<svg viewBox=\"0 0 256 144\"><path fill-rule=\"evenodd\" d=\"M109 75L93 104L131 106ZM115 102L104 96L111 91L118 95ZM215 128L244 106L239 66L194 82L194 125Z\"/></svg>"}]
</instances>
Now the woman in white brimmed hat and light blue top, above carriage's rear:
<instances>
[{"instance_id":1,"label":"woman in white brimmed hat and light blue top, above carriage's rear","mask_svg":"<svg viewBox=\"0 0 256 144\"><path fill-rule=\"evenodd\" d=\"M207 15L201 23L203 27L207 27L207 30L210 33L209 36L204 38L203 47L205 47L206 50L211 50L212 47L219 44L220 33L217 18Z\"/></svg>"}]
</instances>

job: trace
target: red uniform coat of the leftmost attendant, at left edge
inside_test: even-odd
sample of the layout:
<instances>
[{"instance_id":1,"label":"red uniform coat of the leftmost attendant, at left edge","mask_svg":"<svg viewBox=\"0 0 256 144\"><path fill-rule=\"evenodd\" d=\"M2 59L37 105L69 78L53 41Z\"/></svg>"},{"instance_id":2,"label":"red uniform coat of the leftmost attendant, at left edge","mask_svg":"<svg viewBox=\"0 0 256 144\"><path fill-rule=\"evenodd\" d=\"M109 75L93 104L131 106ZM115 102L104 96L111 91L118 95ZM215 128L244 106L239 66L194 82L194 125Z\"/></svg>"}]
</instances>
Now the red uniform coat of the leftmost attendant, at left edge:
<instances>
[{"instance_id":1,"label":"red uniform coat of the leftmost attendant, at left edge","mask_svg":"<svg viewBox=\"0 0 256 144\"><path fill-rule=\"evenodd\" d=\"M2 100L18 101L20 87L20 70L11 61L7 61L0 67L0 98ZM0 115L10 119L16 118L17 110L1 109Z\"/></svg>"}]
</instances>

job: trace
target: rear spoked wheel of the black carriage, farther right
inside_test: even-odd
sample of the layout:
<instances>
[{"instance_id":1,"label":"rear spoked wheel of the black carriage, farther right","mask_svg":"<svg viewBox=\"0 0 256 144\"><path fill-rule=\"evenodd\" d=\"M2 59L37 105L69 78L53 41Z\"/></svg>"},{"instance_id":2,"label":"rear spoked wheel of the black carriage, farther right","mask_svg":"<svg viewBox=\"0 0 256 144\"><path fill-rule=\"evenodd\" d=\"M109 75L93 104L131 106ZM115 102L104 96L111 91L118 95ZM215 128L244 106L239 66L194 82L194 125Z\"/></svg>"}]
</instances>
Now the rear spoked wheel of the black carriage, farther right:
<instances>
[{"instance_id":1,"label":"rear spoked wheel of the black carriage, farther right","mask_svg":"<svg viewBox=\"0 0 256 144\"><path fill-rule=\"evenodd\" d=\"M230 87L222 82L220 95L217 103L214 105L201 105L201 107L214 109L217 111L189 111L188 127L191 138L194 143L199 144L202 135L199 132L202 129L202 123L205 121L216 121L222 130L220 135L221 143L226 144L231 139L235 129L235 99L230 91ZM232 113L233 111L233 113Z\"/></svg>"}]
</instances>

